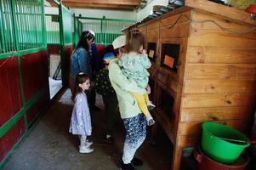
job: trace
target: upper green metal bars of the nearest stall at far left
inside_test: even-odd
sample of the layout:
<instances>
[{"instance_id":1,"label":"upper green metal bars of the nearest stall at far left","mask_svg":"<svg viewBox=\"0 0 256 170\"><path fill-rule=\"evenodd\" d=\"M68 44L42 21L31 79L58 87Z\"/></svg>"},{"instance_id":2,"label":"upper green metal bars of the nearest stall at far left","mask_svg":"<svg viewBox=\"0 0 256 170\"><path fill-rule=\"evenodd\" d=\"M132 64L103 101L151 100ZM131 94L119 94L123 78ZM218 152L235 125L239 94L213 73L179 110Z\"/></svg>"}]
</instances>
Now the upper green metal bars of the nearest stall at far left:
<instances>
[{"instance_id":1,"label":"upper green metal bars of the nearest stall at far left","mask_svg":"<svg viewBox=\"0 0 256 170\"><path fill-rule=\"evenodd\" d=\"M42 0L0 2L0 54L45 47Z\"/></svg>"}]
</instances>

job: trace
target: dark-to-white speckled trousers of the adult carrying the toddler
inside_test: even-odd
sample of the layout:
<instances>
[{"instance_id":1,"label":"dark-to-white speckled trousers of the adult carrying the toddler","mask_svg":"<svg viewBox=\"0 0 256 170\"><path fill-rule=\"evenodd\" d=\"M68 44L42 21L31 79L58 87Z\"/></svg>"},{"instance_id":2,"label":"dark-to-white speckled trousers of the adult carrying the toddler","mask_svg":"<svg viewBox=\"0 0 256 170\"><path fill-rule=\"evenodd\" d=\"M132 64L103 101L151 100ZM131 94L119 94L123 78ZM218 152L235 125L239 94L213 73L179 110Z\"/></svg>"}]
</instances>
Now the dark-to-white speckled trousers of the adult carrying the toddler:
<instances>
[{"instance_id":1,"label":"dark-to-white speckled trousers of the adult carrying the toddler","mask_svg":"<svg viewBox=\"0 0 256 170\"><path fill-rule=\"evenodd\" d=\"M126 129L126 138L123 146L122 161L128 164L134 158L139 146L144 142L146 136L146 120L143 114L122 119Z\"/></svg>"}]
</instances>

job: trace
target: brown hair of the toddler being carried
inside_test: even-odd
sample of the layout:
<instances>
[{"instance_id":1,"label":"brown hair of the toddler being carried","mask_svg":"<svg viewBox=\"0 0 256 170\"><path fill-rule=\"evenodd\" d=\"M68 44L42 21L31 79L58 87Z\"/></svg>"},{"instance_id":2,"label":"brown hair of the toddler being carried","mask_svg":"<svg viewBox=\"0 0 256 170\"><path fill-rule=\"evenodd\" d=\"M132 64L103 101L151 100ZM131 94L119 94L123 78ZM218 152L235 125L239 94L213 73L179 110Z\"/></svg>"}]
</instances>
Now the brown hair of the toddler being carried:
<instances>
[{"instance_id":1,"label":"brown hair of the toddler being carried","mask_svg":"<svg viewBox=\"0 0 256 170\"><path fill-rule=\"evenodd\" d=\"M126 44L124 47L124 53L131 51L141 53L140 47L145 48L145 37L138 29L131 29L126 35Z\"/></svg>"}]
</instances>

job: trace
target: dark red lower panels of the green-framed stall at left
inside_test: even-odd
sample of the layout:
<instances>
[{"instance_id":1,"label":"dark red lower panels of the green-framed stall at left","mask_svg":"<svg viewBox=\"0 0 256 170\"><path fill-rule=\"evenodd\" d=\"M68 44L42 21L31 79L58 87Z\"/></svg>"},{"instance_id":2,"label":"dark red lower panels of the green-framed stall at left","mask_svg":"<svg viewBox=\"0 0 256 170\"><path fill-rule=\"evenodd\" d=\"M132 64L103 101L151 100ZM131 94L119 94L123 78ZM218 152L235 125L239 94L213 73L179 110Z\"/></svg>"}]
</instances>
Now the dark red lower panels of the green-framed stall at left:
<instances>
[{"instance_id":1,"label":"dark red lower panels of the green-framed stall at left","mask_svg":"<svg viewBox=\"0 0 256 170\"><path fill-rule=\"evenodd\" d=\"M26 113L30 123L38 112L49 102L48 94L48 56L38 52L20 57L21 75L26 102L39 91L46 89L43 97ZM15 116L22 108L17 57L0 59L0 127ZM14 144L25 134L24 116L0 139L0 161L8 155Z\"/></svg>"}]
</instances>

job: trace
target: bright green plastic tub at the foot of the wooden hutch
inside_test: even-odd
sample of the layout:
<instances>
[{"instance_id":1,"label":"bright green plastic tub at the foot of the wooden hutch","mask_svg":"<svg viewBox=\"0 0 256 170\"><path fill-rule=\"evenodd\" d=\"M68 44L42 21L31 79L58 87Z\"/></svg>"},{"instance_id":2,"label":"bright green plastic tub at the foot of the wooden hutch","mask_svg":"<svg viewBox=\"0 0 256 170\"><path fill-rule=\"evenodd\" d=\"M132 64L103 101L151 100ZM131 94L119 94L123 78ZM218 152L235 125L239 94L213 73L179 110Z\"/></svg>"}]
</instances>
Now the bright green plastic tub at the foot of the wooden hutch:
<instances>
[{"instance_id":1,"label":"bright green plastic tub at the foot of the wooden hutch","mask_svg":"<svg viewBox=\"0 0 256 170\"><path fill-rule=\"evenodd\" d=\"M205 155L220 163L232 164L249 146L246 143L231 143L223 139L248 140L234 128L216 122L202 123L202 151Z\"/></svg>"}]
</instances>

